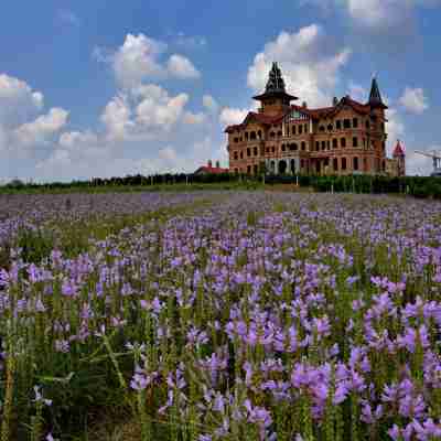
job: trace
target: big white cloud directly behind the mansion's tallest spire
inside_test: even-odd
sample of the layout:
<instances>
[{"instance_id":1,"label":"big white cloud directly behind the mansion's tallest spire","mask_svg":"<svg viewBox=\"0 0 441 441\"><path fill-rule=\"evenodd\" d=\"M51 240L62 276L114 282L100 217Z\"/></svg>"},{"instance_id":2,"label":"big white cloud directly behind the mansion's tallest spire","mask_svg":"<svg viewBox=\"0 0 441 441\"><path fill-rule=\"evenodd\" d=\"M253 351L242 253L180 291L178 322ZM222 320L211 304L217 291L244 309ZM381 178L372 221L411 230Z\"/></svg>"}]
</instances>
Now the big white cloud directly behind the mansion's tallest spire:
<instances>
[{"instance_id":1,"label":"big white cloud directly behind the mansion's tallest spire","mask_svg":"<svg viewBox=\"0 0 441 441\"><path fill-rule=\"evenodd\" d=\"M351 55L347 47L336 47L318 24L302 28L297 33L281 32L265 45L248 71L248 85L262 92L272 62L280 63L287 89L306 100L308 105L330 105L333 90L340 80L341 68Z\"/></svg>"}]
</instances>

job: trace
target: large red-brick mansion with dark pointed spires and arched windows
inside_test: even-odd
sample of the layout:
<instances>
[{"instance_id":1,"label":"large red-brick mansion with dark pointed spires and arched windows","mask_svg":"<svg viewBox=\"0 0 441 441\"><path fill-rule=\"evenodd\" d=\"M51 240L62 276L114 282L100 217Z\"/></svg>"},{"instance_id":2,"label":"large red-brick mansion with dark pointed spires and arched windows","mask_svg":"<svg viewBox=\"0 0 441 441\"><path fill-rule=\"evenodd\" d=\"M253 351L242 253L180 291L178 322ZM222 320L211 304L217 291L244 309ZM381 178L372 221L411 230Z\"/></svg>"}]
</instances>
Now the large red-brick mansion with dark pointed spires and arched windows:
<instances>
[{"instance_id":1,"label":"large red-brick mansion with dark pointed spires and arched windows","mask_svg":"<svg viewBox=\"0 0 441 441\"><path fill-rule=\"evenodd\" d=\"M260 103L240 125L229 126L229 170L248 174L406 174L405 151L398 141L394 158L386 154L386 110L376 78L369 99L334 98L332 106L311 109L286 92L272 64Z\"/></svg>"}]
</instances>

